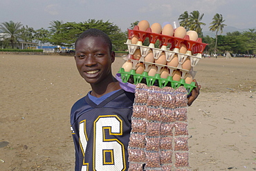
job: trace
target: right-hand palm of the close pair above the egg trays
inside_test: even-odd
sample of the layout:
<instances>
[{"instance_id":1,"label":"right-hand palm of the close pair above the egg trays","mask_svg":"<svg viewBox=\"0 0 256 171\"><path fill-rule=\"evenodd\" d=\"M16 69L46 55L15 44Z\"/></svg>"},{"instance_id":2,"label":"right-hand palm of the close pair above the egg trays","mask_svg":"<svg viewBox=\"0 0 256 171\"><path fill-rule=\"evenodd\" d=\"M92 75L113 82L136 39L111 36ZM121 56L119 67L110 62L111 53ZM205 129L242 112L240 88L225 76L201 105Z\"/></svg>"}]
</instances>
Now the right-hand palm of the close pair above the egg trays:
<instances>
[{"instance_id":1,"label":"right-hand palm of the close pair above the egg trays","mask_svg":"<svg viewBox=\"0 0 256 171\"><path fill-rule=\"evenodd\" d=\"M201 22L203 19L203 15L200 15L200 12L198 10L194 10L190 12L190 17L189 17L189 29L194 30L199 34L199 37L203 37L203 32L201 25L205 26L205 23Z\"/></svg>"}]
</instances>

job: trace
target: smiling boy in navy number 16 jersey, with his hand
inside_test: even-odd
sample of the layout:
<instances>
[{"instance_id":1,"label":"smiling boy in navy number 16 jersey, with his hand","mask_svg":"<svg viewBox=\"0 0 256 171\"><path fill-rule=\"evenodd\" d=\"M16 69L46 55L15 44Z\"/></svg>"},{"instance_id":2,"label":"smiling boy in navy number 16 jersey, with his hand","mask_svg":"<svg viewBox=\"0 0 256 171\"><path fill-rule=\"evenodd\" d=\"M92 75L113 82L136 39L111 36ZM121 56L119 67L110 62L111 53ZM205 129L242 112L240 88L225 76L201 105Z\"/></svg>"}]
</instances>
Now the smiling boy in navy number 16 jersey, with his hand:
<instances>
[{"instance_id":1,"label":"smiling boy in navy number 16 jersey, with his hand","mask_svg":"<svg viewBox=\"0 0 256 171\"><path fill-rule=\"evenodd\" d=\"M75 41L75 63L91 92L71 109L75 170L128 170L129 135L134 93L125 92L113 77L111 40L101 30L89 29ZM200 86L188 99L191 105Z\"/></svg>"}]
</instances>

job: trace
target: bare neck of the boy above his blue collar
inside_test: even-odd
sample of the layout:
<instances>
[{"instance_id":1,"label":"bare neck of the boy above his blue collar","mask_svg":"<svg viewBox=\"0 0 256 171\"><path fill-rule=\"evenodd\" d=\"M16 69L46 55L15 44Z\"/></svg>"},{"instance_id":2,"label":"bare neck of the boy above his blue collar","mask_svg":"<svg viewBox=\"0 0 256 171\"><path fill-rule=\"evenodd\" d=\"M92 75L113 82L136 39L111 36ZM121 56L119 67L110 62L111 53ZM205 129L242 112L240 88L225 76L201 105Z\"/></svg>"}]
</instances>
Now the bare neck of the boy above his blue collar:
<instances>
[{"instance_id":1,"label":"bare neck of the boy above his blue collar","mask_svg":"<svg viewBox=\"0 0 256 171\"><path fill-rule=\"evenodd\" d=\"M91 84L91 89L91 95L99 98L102 97L104 94L119 90L121 88L119 82L112 76L109 81L107 81L106 79L104 83Z\"/></svg>"}]
</instances>

